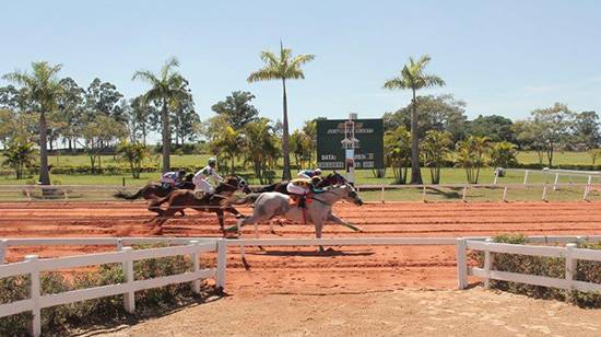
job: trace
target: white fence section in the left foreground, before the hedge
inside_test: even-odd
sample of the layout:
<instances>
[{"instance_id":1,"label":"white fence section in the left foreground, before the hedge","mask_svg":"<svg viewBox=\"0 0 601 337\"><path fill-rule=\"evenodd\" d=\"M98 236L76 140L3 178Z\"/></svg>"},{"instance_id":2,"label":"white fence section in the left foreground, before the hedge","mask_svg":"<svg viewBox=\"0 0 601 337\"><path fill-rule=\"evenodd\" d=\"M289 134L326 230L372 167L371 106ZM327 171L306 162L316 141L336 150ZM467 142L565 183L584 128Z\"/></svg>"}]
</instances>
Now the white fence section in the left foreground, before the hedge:
<instances>
[{"instance_id":1,"label":"white fence section in the left foreground, before the hedge","mask_svg":"<svg viewBox=\"0 0 601 337\"><path fill-rule=\"evenodd\" d=\"M79 244L83 240L76 241ZM99 241L97 241L99 242ZM32 242L5 240L4 244L31 244ZM55 241L56 243L56 241ZM106 242L101 242L105 244ZM39 243L37 243L39 244ZM42 334L40 310L44 307L86 301L92 299L106 298L111 295L123 295L123 307L128 313L135 310L134 293L140 290L164 287L182 282L192 282L192 291L200 292L200 280L214 277L217 287L225 284L225 256L226 247L224 240L212 240L201 243L199 241L188 240L187 245L149 248L133 251L131 247L122 247L119 252L90 254L82 256L58 257L39 259L37 255L27 255L22 263L0 265L0 278L28 275L30 276L30 298L0 305L0 317L14 315L23 312L32 313L31 335L39 336ZM216 268L200 268L200 254L208 252L220 252ZM146 280L134 280L133 263L137 260L160 258L168 256L190 256L192 260L192 271L184 274L158 277ZM125 282L108 284L89 289L72 290L61 293L40 295L40 272L51 271L64 268L85 267L94 265L120 263L122 266Z\"/></svg>"}]
</instances>

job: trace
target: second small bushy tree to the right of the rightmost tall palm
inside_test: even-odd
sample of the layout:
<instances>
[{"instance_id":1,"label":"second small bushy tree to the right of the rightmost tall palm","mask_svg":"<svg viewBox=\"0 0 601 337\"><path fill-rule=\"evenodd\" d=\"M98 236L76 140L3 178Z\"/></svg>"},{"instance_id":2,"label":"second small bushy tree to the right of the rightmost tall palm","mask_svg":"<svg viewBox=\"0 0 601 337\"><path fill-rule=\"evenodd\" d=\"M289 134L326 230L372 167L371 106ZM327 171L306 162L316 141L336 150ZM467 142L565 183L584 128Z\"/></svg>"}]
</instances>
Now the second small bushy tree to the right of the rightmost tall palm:
<instances>
[{"instance_id":1,"label":"second small bushy tree to the right of the rightmost tall palm","mask_svg":"<svg viewBox=\"0 0 601 337\"><path fill-rule=\"evenodd\" d=\"M466 168L469 184L478 184L480 168L486 164L488 141L486 137L470 136L456 146L457 165Z\"/></svg>"}]
</instances>

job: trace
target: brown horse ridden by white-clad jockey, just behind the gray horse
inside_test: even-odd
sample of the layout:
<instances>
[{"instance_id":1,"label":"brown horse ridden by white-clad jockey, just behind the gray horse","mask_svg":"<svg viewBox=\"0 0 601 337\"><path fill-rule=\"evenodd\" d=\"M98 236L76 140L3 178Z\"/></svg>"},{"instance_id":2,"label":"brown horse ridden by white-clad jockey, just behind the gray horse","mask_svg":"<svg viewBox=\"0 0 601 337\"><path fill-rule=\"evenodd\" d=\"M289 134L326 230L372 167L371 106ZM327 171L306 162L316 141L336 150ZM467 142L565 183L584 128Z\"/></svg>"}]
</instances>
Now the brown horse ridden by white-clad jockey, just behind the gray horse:
<instances>
[{"instance_id":1,"label":"brown horse ridden by white-clad jockey, just behind the gray horse","mask_svg":"<svg viewBox=\"0 0 601 337\"><path fill-rule=\"evenodd\" d=\"M187 189L178 189L170 193L168 196L151 201L149 210L157 213L156 224L161 225L175 213L182 211L185 208L191 208L200 212L213 212L217 214L220 229L223 230L224 211L231 212L236 217L243 217L232 206L222 206L222 200L232 197L236 191L240 190L245 194L250 193L250 188L246 181L239 176L227 176L223 183L215 187L214 194L205 194L202 198L198 198L195 191ZM161 205L168 202L167 209L161 209Z\"/></svg>"}]
</instances>

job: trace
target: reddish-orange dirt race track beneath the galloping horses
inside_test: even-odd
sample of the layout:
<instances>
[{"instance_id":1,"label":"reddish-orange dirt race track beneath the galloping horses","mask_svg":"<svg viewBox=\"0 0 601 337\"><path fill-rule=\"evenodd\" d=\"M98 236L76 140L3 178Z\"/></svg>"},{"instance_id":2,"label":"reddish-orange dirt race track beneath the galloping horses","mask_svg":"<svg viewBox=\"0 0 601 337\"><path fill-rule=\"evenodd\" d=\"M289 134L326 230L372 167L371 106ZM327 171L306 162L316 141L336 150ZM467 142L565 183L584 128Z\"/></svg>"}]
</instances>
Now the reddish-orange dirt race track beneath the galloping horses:
<instances>
[{"instance_id":1,"label":"reddish-orange dirt race track beneath the galloping horses","mask_svg":"<svg viewBox=\"0 0 601 337\"><path fill-rule=\"evenodd\" d=\"M243 213L251 209L240 208ZM499 233L527 235L601 234L599 202L391 202L363 207L339 205L334 212L364 232L329 224L325 237L335 236L468 236ZM163 236L221 236L216 217L188 210L185 218L168 220ZM0 204L0 236L155 236L149 222L153 213L143 204ZM226 222L235 219L226 216ZM276 235L260 225L261 237L314 237L306 224L275 225ZM245 229L254 236L254 228ZM42 257L111 251L111 246L12 247L9 262L25 254ZM344 246L318 254L316 247L247 247L250 270L245 270L239 248L229 248L229 291L316 293L446 289L456 287L452 246Z\"/></svg>"}]
</instances>

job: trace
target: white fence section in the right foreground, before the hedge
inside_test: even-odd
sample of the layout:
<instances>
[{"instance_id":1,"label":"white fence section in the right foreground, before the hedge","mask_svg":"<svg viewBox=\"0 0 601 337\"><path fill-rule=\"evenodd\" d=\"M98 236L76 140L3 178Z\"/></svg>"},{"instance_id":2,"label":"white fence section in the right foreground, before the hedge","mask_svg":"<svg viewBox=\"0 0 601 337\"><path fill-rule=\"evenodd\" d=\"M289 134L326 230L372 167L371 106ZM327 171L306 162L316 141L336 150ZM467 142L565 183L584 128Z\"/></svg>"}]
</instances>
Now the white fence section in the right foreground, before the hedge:
<instances>
[{"instance_id":1,"label":"white fence section in the right foreground, before the hedge","mask_svg":"<svg viewBox=\"0 0 601 337\"><path fill-rule=\"evenodd\" d=\"M565 290L579 290L582 292L601 291L601 284L575 280L578 260L601 262L601 251L577 248L575 243L567 243L565 247L529 246L517 244L494 243L487 239L485 242L468 239L458 240L458 283L460 289L468 286L468 276L476 276L484 280L484 287L490 287L491 280L518 282L532 286L542 286ZM484 252L483 268L469 267L467 251ZM537 275L508 272L494 269L494 254L518 254L529 256L555 257L565 259L565 278L552 278Z\"/></svg>"}]
</instances>

